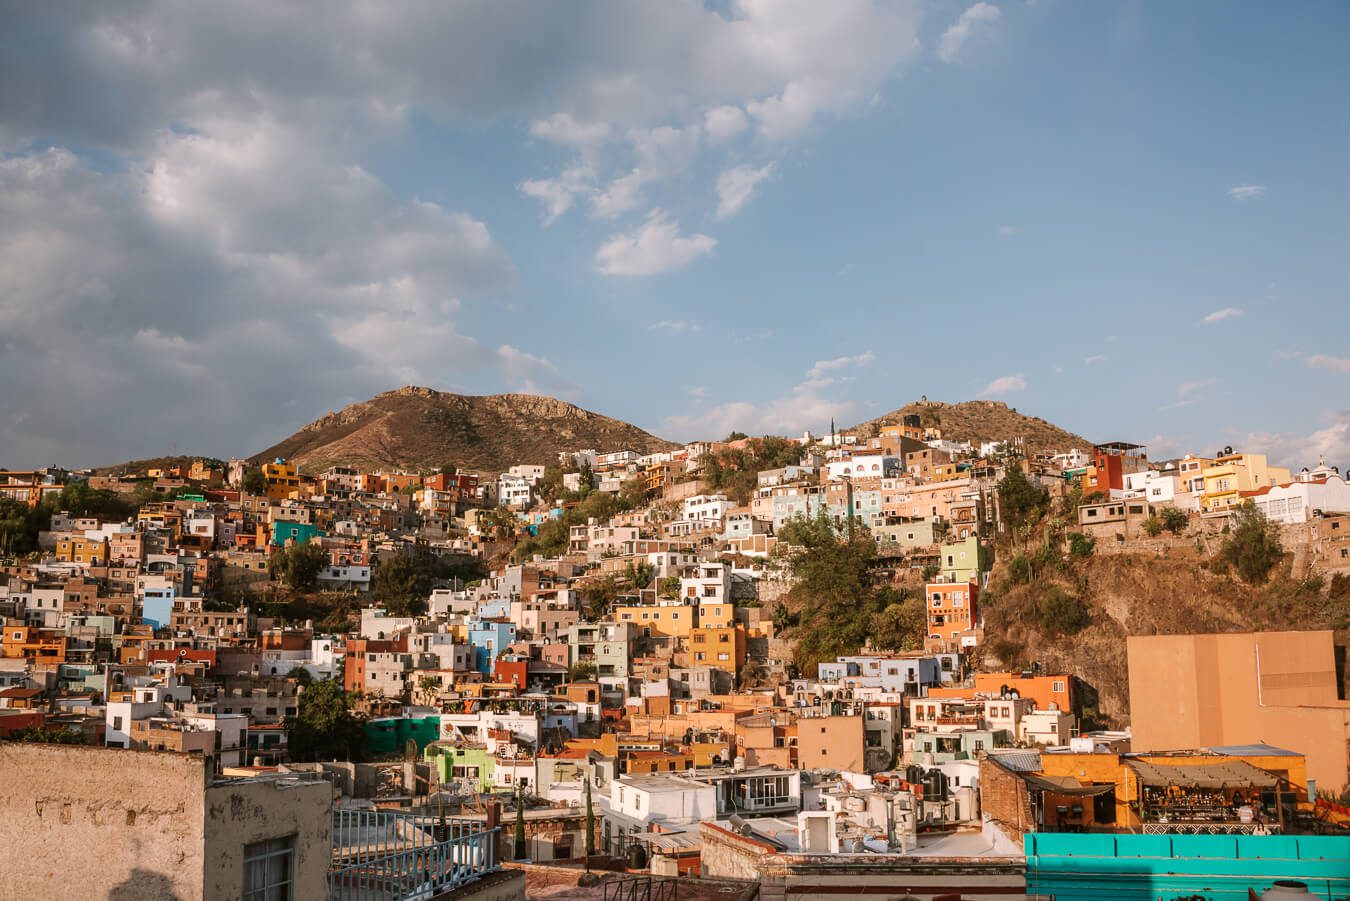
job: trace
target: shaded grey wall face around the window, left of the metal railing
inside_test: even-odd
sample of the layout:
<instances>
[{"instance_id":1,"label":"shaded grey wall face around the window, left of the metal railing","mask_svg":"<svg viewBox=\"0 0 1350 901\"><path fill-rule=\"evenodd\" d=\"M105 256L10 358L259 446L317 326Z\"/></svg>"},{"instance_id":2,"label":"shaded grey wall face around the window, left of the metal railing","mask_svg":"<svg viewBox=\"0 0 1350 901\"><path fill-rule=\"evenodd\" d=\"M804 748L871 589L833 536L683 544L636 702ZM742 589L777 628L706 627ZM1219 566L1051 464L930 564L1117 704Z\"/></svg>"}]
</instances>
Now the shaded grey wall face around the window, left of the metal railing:
<instances>
[{"instance_id":1,"label":"shaded grey wall face around the window, left of the metal railing","mask_svg":"<svg viewBox=\"0 0 1350 901\"><path fill-rule=\"evenodd\" d=\"M321 781L240 781L208 789L202 898L238 898L244 885L244 847L288 835L296 836L292 897L325 897L332 801L332 786Z\"/></svg>"}]
</instances>

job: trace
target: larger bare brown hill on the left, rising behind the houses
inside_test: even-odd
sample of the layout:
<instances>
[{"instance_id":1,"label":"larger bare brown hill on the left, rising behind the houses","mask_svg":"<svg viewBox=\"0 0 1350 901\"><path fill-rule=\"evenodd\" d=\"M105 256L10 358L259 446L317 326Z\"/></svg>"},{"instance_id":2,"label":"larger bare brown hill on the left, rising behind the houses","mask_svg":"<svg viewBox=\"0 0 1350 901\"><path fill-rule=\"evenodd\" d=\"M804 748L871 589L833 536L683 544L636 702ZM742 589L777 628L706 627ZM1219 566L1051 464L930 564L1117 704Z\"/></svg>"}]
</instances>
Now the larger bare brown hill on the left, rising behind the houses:
<instances>
[{"instance_id":1,"label":"larger bare brown hill on the left, rising behind the houses","mask_svg":"<svg viewBox=\"0 0 1350 901\"><path fill-rule=\"evenodd\" d=\"M516 463L547 463L560 451L651 454L672 447L636 426L554 397L406 386L328 413L252 459L285 457L310 473L336 463L414 470L450 463L500 473Z\"/></svg>"}]
</instances>

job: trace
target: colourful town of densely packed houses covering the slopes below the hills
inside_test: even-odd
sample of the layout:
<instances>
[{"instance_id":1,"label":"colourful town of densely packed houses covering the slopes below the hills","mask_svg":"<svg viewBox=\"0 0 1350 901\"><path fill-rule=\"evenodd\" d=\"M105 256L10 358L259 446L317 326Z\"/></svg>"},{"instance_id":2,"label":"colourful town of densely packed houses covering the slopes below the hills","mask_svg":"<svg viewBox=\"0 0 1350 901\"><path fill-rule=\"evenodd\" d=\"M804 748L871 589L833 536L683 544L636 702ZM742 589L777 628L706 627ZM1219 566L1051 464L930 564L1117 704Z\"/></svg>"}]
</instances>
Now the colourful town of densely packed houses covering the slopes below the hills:
<instances>
[{"instance_id":1,"label":"colourful town of densely packed houses covering the slopes below the hills","mask_svg":"<svg viewBox=\"0 0 1350 901\"><path fill-rule=\"evenodd\" d=\"M205 810L209 885L248 804L289 838L219 863L247 897L1350 894L1345 474L934 421L500 471L3 471L0 812L51 851L105 842L53 831L72 804L126 840ZM1120 634L1111 702L1065 661L1103 616L1087 567L1135 557L1292 588L1269 628Z\"/></svg>"}]
</instances>

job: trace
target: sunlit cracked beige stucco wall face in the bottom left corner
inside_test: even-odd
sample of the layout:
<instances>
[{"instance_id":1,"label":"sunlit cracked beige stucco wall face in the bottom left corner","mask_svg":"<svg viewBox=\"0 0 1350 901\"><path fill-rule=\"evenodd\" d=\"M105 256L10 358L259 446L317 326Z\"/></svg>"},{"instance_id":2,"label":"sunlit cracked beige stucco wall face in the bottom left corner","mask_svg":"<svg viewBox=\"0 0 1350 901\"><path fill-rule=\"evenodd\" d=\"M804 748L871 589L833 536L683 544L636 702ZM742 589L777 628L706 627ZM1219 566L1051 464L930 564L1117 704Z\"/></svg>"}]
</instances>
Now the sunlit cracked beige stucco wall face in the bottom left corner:
<instances>
[{"instance_id":1,"label":"sunlit cracked beige stucco wall face in the bottom left corner","mask_svg":"<svg viewBox=\"0 0 1350 901\"><path fill-rule=\"evenodd\" d=\"M0 744L0 897L200 898L205 781L202 758Z\"/></svg>"}]
</instances>

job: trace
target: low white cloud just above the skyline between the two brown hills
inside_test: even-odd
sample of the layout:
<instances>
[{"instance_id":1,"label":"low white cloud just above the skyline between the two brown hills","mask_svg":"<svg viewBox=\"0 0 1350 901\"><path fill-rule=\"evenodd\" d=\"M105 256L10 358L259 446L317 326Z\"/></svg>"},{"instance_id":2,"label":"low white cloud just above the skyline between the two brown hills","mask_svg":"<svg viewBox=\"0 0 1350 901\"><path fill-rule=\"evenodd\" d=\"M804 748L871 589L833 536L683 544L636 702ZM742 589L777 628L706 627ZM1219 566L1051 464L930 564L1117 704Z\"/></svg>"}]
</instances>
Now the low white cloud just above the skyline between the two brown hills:
<instances>
[{"instance_id":1,"label":"low white cloud just above the skyline between the two brown hills","mask_svg":"<svg viewBox=\"0 0 1350 901\"><path fill-rule=\"evenodd\" d=\"M806 377L782 397L767 403L737 400L684 416L668 416L662 431L679 439L695 439L732 431L748 435L796 435L807 430L825 430L832 419L842 424L860 416L860 405L852 400L832 397L828 389L837 390L852 378L830 378L826 373L867 366L872 361L871 351L817 361L806 370Z\"/></svg>"}]
</instances>

